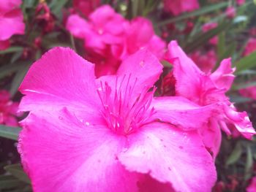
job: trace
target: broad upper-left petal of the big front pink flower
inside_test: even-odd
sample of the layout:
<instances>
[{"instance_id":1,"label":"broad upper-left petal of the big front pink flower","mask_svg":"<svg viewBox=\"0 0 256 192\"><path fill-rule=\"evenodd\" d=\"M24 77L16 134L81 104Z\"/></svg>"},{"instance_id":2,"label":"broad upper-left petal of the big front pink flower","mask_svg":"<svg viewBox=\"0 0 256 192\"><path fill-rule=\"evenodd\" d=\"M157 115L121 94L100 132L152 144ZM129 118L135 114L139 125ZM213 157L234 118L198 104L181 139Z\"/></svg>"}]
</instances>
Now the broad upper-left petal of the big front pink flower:
<instances>
[{"instance_id":1,"label":"broad upper-left petal of the big front pink flower","mask_svg":"<svg viewBox=\"0 0 256 192\"><path fill-rule=\"evenodd\" d=\"M94 65L69 48L56 47L29 69L20 85L20 110L54 111L67 107L78 118L101 117ZM90 118L90 119L91 119Z\"/></svg>"}]
</instances>

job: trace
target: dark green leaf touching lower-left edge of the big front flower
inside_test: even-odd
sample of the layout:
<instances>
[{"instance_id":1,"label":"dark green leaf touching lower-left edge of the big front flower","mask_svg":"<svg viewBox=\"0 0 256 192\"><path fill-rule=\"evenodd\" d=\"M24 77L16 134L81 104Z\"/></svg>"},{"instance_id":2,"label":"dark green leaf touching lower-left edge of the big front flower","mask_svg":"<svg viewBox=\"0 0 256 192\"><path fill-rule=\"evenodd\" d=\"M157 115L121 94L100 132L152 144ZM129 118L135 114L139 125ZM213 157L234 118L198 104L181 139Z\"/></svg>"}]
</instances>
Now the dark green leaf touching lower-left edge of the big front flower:
<instances>
[{"instance_id":1,"label":"dark green leaf touching lower-left edge of the big front flower","mask_svg":"<svg viewBox=\"0 0 256 192\"><path fill-rule=\"evenodd\" d=\"M29 180L29 177L26 175L25 172L23 172L23 169L20 164L12 164L12 165L8 165L8 166L4 166L4 169L7 172L10 172L17 179L19 179L25 183L28 183L28 184L31 183Z\"/></svg>"}]
</instances>

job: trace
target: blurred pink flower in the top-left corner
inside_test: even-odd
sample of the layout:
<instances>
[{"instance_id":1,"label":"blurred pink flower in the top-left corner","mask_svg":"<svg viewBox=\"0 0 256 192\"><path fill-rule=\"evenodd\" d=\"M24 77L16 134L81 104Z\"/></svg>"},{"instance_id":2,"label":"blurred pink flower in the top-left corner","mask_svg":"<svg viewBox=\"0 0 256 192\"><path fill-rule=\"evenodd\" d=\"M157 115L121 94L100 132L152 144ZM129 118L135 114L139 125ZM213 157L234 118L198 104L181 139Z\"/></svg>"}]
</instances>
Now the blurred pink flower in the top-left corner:
<instances>
[{"instance_id":1,"label":"blurred pink flower in the top-left corner","mask_svg":"<svg viewBox=\"0 0 256 192\"><path fill-rule=\"evenodd\" d=\"M25 24L20 10L21 0L0 1L0 50L10 46L14 34L24 34Z\"/></svg>"}]
</instances>

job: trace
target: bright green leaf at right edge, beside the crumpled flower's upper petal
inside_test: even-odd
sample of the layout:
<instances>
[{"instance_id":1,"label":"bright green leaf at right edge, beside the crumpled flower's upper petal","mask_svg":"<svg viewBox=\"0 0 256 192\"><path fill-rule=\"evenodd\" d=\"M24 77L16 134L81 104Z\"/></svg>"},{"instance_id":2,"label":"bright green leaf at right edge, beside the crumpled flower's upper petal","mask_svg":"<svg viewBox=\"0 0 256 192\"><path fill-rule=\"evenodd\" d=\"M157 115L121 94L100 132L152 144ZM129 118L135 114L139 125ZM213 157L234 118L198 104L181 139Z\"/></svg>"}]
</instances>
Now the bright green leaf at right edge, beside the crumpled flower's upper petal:
<instances>
[{"instance_id":1,"label":"bright green leaf at right edge, beside the crumpled flower's upper petal","mask_svg":"<svg viewBox=\"0 0 256 192\"><path fill-rule=\"evenodd\" d=\"M244 58L241 58L239 61L235 63L236 72L241 72L246 69L251 69L252 67L256 66L256 51L247 55Z\"/></svg>"}]
</instances>

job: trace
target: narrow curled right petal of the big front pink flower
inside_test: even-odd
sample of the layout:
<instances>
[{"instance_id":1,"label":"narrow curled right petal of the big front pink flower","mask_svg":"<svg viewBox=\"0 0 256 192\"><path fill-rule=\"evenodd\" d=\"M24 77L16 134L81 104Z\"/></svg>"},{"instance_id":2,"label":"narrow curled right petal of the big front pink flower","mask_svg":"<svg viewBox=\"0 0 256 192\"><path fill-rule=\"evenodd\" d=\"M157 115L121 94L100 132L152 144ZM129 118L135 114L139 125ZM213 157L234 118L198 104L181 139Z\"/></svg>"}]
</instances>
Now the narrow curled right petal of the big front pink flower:
<instances>
[{"instance_id":1,"label":"narrow curled right petal of the big front pink flower","mask_svg":"<svg viewBox=\"0 0 256 192\"><path fill-rule=\"evenodd\" d=\"M172 123L184 130L197 129L211 118L215 105L200 107L184 97L170 96L153 99L151 106L156 113L152 118Z\"/></svg>"}]
</instances>

